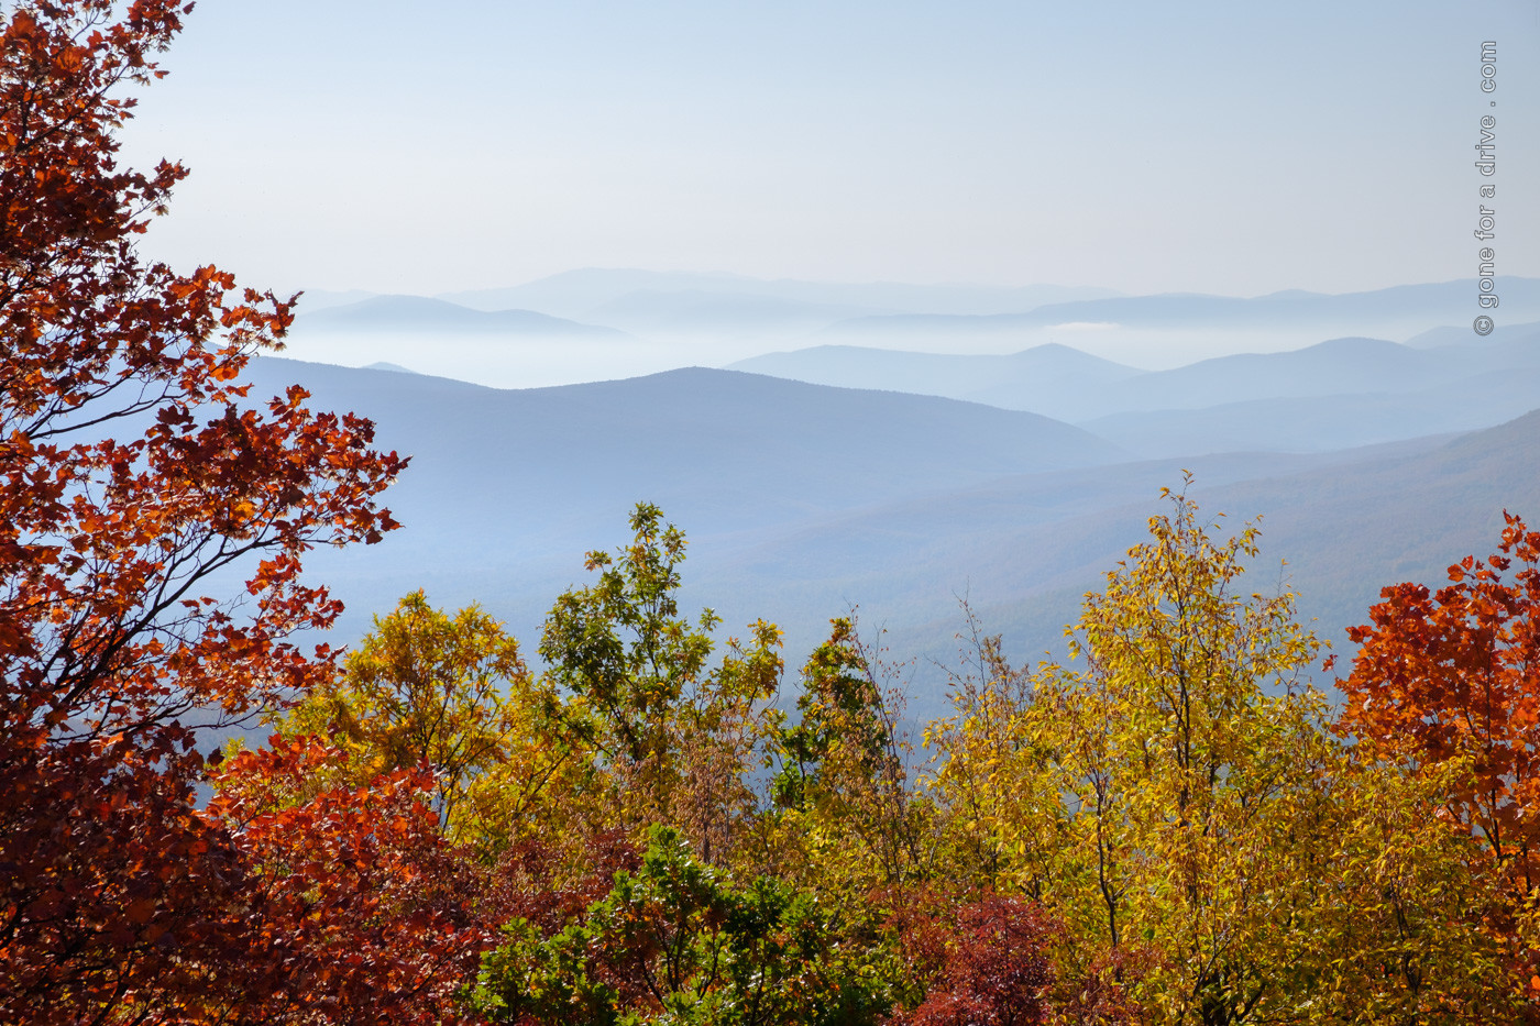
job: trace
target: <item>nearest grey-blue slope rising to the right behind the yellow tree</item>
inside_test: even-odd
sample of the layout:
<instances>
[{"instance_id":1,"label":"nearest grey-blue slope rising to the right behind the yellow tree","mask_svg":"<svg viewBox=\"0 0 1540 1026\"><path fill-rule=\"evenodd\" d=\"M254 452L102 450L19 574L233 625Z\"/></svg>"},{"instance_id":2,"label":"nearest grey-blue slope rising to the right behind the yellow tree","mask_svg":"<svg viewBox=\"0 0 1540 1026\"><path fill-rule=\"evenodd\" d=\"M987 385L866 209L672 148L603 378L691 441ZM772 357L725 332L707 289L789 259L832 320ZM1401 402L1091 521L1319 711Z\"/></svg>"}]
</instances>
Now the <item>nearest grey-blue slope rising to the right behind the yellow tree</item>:
<instances>
[{"instance_id":1,"label":"nearest grey-blue slope rising to the right behind the yellow tree","mask_svg":"<svg viewBox=\"0 0 1540 1026\"><path fill-rule=\"evenodd\" d=\"M1195 473L1207 516L1237 527L1261 518L1244 587L1297 592L1301 618L1338 652L1351 652L1344 630L1381 587L1437 585L1460 556L1492 552L1505 508L1540 521L1540 478L1529 473L1540 411L1452 441L1317 459L1227 454L999 479L722 545L699 593L752 587L762 609L859 602L869 625L890 629L896 656L919 658L916 707L933 715L942 696L929 659L955 655L956 599L969 596L1016 662L1044 650L1063 658L1081 596L1144 541L1147 518L1167 508L1157 493L1180 487L1180 467Z\"/></svg>"}]
</instances>

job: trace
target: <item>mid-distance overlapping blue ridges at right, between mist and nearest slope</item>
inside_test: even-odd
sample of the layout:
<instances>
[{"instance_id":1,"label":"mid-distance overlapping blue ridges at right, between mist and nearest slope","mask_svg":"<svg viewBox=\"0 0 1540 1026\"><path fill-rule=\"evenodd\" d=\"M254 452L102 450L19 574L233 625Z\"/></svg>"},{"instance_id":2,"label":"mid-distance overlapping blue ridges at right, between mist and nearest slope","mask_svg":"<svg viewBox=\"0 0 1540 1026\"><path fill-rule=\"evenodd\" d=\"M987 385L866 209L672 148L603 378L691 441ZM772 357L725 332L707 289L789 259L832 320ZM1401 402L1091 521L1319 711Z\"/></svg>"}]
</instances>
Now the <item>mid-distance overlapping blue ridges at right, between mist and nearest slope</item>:
<instances>
[{"instance_id":1,"label":"mid-distance overlapping blue ridges at right, between mist and nearest slope","mask_svg":"<svg viewBox=\"0 0 1540 1026\"><path fill-rule=\"evenodd\" d=\"M1497 333L1494 333L1497 336ZM1332 339L1140 371L1061 345L947 356L847 345L733 364L815 384L944 394L1070 421L1144 456L1324 451L1491 427L1540 407L1540 324L1414 348Z\"/></svg>"}]
</instances>

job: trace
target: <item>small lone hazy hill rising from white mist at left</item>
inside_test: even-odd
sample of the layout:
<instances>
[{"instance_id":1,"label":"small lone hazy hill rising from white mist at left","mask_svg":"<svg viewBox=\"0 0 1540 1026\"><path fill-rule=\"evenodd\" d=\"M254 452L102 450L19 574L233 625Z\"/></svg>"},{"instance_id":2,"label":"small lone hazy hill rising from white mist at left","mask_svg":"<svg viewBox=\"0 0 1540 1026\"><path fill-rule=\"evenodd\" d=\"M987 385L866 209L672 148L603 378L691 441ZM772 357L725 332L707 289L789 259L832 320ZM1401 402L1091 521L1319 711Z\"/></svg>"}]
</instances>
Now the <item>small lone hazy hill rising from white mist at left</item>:
<instances>
[{"instance_id":1,"label":"small lone hazy hill rising from white mist at left","mask_svg":"<svg viewBox=\"0 0 1540 1026\"><path fill-rule=\"evenodd\" d=\"M614 328L578 324L533 310L482 311L424 296L373 296L354 303L302 313L294 320L294 331L300 334L322 331L422 336L500 334L542 339L614 339L621 336Z\"/></svg>"}]
</instances>

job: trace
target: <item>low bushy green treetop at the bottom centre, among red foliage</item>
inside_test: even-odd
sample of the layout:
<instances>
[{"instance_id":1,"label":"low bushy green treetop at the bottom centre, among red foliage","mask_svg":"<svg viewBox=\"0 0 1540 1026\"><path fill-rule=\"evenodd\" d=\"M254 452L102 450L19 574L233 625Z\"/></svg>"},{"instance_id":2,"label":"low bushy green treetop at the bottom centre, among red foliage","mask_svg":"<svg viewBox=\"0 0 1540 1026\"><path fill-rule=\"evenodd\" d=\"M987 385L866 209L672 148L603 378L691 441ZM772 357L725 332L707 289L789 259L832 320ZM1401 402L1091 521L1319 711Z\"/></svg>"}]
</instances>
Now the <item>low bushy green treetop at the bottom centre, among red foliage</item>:
<instances>
[{"instance_id":1,"label":"low bushy green treetop at the bottom centre, among red foliage","mask_svg":"<svg viewBox=\"0 0 1540 1026\"><path fill-rule=\"evenodd\" d=\"M561 932L508 934L474 995L497 1023L861 1026L890 1004L872 952L852 951L810 892L767 877L735 886L667 827Z\"/></svg>"}]
</instances>

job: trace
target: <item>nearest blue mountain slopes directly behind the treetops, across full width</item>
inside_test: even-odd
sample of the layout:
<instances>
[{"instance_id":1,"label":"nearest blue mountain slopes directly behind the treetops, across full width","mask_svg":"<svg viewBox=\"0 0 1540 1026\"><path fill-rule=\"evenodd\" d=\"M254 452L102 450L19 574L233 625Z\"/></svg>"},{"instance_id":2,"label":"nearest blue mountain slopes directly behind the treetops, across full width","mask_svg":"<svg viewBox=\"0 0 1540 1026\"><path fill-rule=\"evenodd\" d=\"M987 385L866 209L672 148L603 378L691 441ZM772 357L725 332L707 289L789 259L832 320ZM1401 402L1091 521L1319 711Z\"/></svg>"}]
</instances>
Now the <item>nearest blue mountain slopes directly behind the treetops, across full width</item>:
<instances>
[{"instance_id":1,"label":"nearest blue mountain slopes directly behind the treetops, across full width","mask_svg":"<svg viewBox=\"0 0 1540 1026\"><path fill-rule=\"evenodd\" d=\"M254 373L254 397L299 381L413 456L387 499L403 530L310 558L350 607L336 641L425 587L482 602L533 653L554 596L585 579L582 552L625 541L644 499L691 538L685 601L730 630L779 622L790 666L850 604L895 655L942 658L964 593L1013 656L1056 645L1181 467L1204 511L1264 515L1249 587L1291 581L1337 641L1381 585L1489 552L1505 507L1540 521L1540 413L1452 439L1140 461L1030 413L733 371L513 391L279 359ZM916 710L936 712L926 667Z\"/></svg>"}]
</instances>

